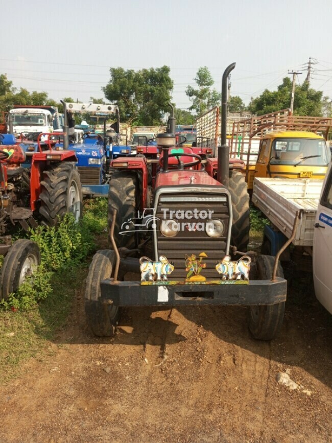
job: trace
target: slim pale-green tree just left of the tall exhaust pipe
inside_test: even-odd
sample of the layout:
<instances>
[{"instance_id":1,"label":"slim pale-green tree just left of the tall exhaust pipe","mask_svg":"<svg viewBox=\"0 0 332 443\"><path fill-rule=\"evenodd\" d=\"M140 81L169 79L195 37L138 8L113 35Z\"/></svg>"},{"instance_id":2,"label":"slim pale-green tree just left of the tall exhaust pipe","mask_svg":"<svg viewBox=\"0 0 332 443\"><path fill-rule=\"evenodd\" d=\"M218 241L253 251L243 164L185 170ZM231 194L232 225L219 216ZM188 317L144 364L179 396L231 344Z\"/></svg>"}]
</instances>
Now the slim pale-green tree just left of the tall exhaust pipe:
<instances>
[{"instance_id":1,"label":"slim pale-green tree just left of the tall exhaust pipe","mask_svg":"<svg viewBox=\"0 0 332 443\"><path fill-rule=\"evenodd\" d=\"M211 89L211 86L214 84L214 79L207 66L198 69L194 80L198 88L195 89L193 86L187 86L185 93L189 100L193 102L189 109L196 111L200 115L208 109L219 105L221 94L216 89Z\"/></svg>"}]
</instances>

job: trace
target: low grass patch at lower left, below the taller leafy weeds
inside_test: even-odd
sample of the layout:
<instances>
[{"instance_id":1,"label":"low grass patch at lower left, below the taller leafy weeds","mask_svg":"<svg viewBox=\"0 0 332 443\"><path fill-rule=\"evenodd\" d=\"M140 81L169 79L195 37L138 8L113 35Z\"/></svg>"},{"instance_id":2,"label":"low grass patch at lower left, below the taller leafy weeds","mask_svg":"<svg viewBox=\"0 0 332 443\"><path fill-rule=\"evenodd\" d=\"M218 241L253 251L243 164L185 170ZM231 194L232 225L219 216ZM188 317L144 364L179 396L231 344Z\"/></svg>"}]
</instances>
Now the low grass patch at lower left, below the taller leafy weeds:
<instances>
[{"instance_id":1,"label":"low grass patch at lower left, below the taller leafy weeds","mask_svg":"<svg viewBox=\"0 0 332 443\"><path fill-rule=\"evenodd\" d=\"M68 271L53 275L52 294L28 311L0 312L0 380L2 383L17 377L21 363L31 357L44 359L54 353L50 341L65 323L73 297L87 273L84 263ZM14 334L13 336L11 334Z\"/></svg>"}]
</instances>

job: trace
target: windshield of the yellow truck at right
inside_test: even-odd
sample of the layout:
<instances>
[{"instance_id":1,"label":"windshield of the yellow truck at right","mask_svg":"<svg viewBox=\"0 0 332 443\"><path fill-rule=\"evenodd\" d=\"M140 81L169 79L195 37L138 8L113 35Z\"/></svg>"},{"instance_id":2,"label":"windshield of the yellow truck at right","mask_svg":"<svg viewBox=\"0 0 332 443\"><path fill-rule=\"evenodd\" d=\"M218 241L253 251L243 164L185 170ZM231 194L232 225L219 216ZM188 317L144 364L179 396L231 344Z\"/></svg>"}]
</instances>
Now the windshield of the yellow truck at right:
<instances>
[{"instance_id":1,"label":"windshield of the yellow truck at right","mask_svg":"<svg viewBox=\"0 0 332 443\"><path fill-rule=\"evenodd\" d=\"M327 166L325 140L315 138L277 138L272 144L271 165Z\"/></svg>"}]
</instances>

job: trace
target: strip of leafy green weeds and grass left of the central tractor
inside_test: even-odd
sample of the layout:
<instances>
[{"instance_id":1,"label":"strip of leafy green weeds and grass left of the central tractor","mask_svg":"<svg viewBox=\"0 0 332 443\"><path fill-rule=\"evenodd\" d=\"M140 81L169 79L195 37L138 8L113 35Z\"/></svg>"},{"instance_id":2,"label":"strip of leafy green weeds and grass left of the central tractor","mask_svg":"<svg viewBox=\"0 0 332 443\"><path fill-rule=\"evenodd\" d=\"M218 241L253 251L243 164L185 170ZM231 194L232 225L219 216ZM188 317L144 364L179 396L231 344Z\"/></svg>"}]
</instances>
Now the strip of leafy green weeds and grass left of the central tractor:
<instances>
[{"instance_id":1,"label":"strip of leafy green weeds and grass left of the central tractor","mask_svg":"<svg viewBox=\"0 0 332 443\"><path fill-rule=\"evenodd\" d=\"M107 199L88 200L84 209L80 226L65 220L57 229L38 228L31 234L41 249L43 267L33 285L22 288L0 310L2 383L17 377L27 359L54 353L50 342L84 284L97 248L94 238L107 228Z\"/></svg>"}]
</instances>

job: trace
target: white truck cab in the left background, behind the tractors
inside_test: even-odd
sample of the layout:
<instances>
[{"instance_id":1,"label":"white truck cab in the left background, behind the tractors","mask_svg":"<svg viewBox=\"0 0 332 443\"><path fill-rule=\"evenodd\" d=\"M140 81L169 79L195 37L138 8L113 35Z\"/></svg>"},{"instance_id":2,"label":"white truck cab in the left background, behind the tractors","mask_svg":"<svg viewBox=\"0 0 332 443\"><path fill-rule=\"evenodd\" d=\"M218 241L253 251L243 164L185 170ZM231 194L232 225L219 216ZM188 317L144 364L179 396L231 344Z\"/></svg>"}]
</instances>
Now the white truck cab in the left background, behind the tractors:
<instances>
[{"instance_id":1,"label":"white truck cab in the left background, behind the tractors","mask_svg":"<svg viewBox=\"0 0 332 443\"><path fill-rule=\"evenodd\" d=\"M20 138L22 133L62 130L58 108L55 106L14 106L9 115L16 138Z\"/></svg>"}]
</instances>

